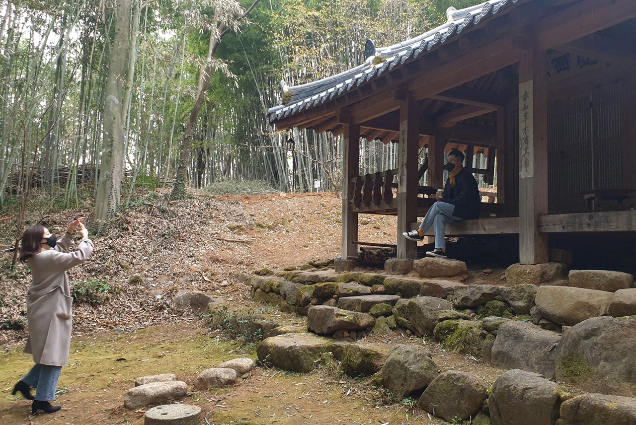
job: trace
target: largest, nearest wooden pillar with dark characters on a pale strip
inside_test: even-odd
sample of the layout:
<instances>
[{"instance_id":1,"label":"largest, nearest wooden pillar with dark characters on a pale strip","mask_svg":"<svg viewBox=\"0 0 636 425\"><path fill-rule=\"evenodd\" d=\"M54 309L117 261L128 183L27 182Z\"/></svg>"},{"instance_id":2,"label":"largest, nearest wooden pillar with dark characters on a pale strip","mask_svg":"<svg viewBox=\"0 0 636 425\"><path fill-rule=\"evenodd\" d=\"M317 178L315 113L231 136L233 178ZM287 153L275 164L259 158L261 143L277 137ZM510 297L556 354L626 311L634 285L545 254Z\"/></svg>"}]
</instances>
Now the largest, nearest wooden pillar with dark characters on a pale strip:
<instances>
[{"instance_id":1,"label":"largest, nearest wooden pillar with dark characters on a pale strip","mask_svg":"<svg viewBox=\"0 0 636 425\"><path fill-rule=\"evenodd\" d=\"M519 63L519 260L548 262L548 235L537 218L548 213L548 85L546 52L534 44Z\"/></svg>"}]
</instances>

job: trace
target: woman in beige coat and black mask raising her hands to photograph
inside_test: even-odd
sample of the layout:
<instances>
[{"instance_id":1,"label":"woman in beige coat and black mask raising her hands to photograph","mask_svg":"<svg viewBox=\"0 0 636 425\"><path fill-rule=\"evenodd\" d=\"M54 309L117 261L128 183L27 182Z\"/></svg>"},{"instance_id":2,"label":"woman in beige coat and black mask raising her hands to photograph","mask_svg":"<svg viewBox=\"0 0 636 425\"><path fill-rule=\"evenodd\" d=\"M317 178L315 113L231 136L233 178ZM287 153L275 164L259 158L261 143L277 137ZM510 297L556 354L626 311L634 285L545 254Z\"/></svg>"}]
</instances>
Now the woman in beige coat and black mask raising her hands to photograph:
<instances>
[{"instance_id":1,"label":"woman in beige coat and black mask raising her hands to photograph","mask_svg":"<svg viewBox=\"0 0 636 425\"><path fill-rule=\"evenodd\" d=\"M73 233L79 229L81 242L75 250ZM38 410L53 413L60 406L49 402L55 398L55 388L62 366L69 360L71 346L71 288L66 273L71 267L84 262L93 252L88 231L77 219L58 241L44 226L31 226L22 236L20 260L31 267L33 278L27 294L27 320L29 340L25 353L33 354L36 363L13 388L33 400L32 414ZM31 388L37 388L35 397Z\"/></svg>"}]
</instances>

